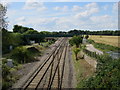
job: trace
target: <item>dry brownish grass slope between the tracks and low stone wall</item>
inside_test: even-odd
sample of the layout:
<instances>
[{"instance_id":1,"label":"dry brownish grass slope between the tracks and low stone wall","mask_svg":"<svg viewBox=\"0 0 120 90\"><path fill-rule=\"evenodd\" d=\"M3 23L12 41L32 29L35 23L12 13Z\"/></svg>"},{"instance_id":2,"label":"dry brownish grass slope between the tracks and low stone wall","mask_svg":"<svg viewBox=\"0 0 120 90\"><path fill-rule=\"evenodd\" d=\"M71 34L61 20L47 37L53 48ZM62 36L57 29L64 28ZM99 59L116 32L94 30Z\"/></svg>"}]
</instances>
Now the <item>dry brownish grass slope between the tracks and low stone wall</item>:
<instances>
[{"instance_id":1,"label":"dry brownish grass slope between the tracks and low stone wall","mask_svg":"<svg viewBox=\"0 0 120 90\"><path fill-rule=\"evenodd\" d=\"M83 88L84 81L91 77L94 74L95 69L88 64L84 59L81 59L81 52L78 53L78 60L75 59L75 54L73 52L73 49L75 47L72 47L72 58L74 62L74 67L76 70L76 80L77 80L77 85L76 87L78 88Z\"/></svg>"}]
</instances>

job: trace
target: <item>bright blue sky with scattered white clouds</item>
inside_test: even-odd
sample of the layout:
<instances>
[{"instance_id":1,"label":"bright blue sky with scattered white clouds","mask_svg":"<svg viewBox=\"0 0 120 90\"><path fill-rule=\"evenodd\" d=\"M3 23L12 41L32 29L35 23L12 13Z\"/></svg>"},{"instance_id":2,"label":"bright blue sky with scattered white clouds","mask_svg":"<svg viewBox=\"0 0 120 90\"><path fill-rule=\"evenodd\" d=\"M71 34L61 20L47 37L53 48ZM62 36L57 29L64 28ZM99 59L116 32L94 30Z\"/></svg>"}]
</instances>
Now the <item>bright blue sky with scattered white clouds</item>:
<instances>
[{"instance_id":1,"label":"bright blue sky with scattered white clouds","mask_svg":"<svg viewBox=\"0 0 120 90\"><path fill-rule=\"evenodd\" d=\"M10 2L8 29L22 25L38 31L117 30L117 2Z\"/></svg>"}]
</instances>

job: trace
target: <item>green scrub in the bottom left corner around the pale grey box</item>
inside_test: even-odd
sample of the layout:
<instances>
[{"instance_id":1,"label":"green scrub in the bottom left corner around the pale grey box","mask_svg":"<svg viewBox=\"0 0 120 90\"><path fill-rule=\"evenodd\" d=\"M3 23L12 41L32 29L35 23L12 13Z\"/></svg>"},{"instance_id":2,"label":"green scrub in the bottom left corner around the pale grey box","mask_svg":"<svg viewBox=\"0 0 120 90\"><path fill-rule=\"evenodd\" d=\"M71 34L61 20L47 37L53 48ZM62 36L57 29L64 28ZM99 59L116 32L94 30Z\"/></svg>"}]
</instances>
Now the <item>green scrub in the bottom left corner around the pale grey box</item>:
<instances>
[{"instance_id":1,"label":"green scrub in the bottom left corner around the pale grey box","mask_svg":"<svg viewBox=\"0 0 120 90\"><path fill-rule=\"evenodd\" d=\"M12 75L11 71L17 70L19 64L13 61L14 68L10 68L6 65L7 59L2 59L2 90L7 90L12 86L13 83L18 79L18 76Z\"/></svg>"}]
</instances>

